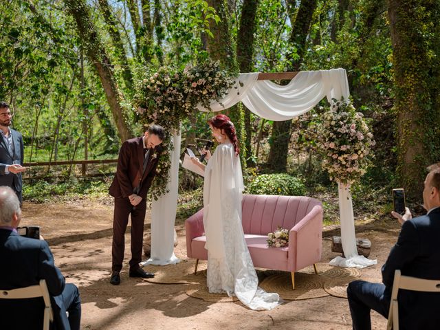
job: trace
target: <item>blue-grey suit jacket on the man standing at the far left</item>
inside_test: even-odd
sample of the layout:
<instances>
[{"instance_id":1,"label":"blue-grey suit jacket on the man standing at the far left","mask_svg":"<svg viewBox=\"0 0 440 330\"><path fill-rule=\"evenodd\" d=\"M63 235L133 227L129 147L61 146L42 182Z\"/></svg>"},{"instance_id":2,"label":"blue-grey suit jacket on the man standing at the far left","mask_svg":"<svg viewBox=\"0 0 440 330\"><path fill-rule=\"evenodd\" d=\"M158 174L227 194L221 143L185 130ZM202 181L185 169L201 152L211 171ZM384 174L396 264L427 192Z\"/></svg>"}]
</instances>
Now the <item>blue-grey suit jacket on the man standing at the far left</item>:
<instances>
[{"instance_id":1,"label":"blue-grey suit jacket on the man standing at the far left","mask_svg":"<svg viewBox=\"0 0 440 330\"><path fill-rule=\"evenodd\" d=\"M21 173L5 174L7 165L20 164L23 166L23 137L21 133L11 129L12 143L14 144L14 154L11 155L8 142L5 141L3 134L0 134L0 186L9 186L16 192L21 192L22 179Z\"/></svg>"}]
</instances>

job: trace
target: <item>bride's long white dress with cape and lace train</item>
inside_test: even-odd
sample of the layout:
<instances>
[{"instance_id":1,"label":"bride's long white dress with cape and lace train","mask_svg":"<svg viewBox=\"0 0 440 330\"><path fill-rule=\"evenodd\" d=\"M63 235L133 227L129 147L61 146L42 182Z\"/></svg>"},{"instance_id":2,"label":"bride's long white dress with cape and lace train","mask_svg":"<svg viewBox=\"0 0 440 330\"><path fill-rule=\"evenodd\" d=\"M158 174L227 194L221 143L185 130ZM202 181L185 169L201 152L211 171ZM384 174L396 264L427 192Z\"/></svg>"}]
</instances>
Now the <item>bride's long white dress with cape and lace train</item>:
<instances>
[{"instance_id":1,"label":"bride's long white dress with cape and lace train","mask_svg":"<svg viewBox=\"0 0 440 330\"><path fill-rule=\"evenodd\" d=\"M258 287L258 278L241 225L243 175L230 143L219 144L205 168L203 225L208 250L208 289L235 294L251 309L272 309L278 294Z\"/></svg>"}]
</instances>

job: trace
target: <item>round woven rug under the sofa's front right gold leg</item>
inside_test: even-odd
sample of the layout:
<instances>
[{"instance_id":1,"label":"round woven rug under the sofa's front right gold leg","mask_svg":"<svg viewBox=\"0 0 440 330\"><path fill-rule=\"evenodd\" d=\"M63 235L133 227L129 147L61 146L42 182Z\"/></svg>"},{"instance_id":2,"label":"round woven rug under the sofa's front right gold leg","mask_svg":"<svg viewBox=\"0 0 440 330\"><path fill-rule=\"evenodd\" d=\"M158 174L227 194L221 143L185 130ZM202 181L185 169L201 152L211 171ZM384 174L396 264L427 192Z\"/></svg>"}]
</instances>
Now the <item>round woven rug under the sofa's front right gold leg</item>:
<instances>
[{"instance_id":1,"label":"round woven rug under the sofa's front right gold leg","mask_svg":"<svg viewBox=\"0 0 440 330\"><path fill-rule=\"evenodd\" d=\"M283 272L265 278L260 287L266 292L276 292L286 300L303 300L329 296L322 289L322 276L306 273L295 273L295 289L292 289L292 277Z\"/></svg>"}]
</instances>

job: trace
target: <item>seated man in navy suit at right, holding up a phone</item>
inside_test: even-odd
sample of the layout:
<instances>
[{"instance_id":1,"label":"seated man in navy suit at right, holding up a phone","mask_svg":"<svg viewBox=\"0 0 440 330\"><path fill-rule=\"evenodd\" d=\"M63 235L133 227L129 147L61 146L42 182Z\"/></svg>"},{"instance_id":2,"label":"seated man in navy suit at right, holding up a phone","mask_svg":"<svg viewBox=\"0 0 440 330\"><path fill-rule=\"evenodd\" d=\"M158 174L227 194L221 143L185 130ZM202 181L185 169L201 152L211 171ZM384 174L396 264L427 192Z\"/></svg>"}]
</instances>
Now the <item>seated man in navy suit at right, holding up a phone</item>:
<instances>
[{"instance_id":1,"label":"seated man in navy suit at right, holding up a phone","mask_svg":"<svg viewBox=\"0 0 440 330\"><path fill-rule=\"evenodd\" d=\"M440 163L428 167L423 204L428 214L412 219L406 208L403 217L392 212L401 223L397 243L382 267L382 283L354 281L349 284L353 329L371 329L370 311L388 318L394 272L430 280L440 279ZM439 329L440 294L399 290L399 329Z\"/></svg>"}]
</instances>

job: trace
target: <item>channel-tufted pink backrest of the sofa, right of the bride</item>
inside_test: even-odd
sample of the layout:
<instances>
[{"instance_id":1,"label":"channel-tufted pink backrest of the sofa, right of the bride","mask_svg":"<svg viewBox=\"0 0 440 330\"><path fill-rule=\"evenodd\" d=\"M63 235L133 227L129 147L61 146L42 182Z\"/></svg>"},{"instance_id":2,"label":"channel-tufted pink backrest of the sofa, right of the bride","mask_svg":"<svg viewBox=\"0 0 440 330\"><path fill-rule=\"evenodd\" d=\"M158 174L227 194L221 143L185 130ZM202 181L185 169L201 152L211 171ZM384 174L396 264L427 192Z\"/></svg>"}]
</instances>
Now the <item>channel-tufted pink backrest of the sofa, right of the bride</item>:
<instances>
[{"instance_id":1,"label":"channel-tufted pink backrest of the sofa, right of the bride","mask_svg":"<svg viewBox=\"0 0 440 330\"><path fill-rule=\"evenodd\" d=\"M243 195L243 231L266 235L279 225L293 228L315 206L318 199L303 196Z\"/></svg>"}]
</instances>

